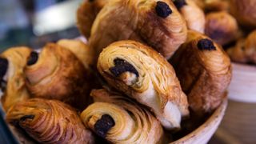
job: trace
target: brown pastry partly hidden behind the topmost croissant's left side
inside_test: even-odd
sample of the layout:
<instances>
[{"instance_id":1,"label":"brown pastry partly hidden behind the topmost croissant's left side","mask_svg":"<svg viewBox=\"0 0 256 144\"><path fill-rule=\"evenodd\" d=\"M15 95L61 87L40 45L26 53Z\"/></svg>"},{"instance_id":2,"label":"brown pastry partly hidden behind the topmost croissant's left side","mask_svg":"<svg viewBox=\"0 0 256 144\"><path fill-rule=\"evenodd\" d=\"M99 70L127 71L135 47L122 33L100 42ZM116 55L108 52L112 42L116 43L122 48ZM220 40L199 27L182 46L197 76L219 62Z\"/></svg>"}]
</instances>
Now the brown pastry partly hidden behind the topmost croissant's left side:
<instances>
[{"instance_id":1,"label":"brown pastry partly hidden behind the topmost croissant's left side","mask_svg":"<svg viewBox=\"0 0 256 144\"><path fill-rule=\"evenodd\" d=\"M110 0L84 0L77 10L78 30L86 37L90 38L90 30L98 12Z\"/></svg>"}]
</instances>

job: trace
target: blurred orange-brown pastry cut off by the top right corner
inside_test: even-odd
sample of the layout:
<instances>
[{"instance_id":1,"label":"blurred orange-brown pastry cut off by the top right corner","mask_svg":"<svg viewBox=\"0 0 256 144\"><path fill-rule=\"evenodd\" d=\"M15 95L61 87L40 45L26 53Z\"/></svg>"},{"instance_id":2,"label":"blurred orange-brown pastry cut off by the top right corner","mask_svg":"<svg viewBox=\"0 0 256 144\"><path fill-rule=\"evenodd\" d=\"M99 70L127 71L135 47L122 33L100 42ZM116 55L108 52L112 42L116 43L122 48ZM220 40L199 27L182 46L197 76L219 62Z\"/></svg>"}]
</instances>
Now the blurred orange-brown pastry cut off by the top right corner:
<instances>
[{"instance_id":1,"label":"blurred orange-brown pastry cut off by the top right corner","mask_svg":"<svg viewBox=\"0 0 256 144\"><path fill-rule=\"evenodd\" d=\"M230 0L230 11L246 28L256 28L256 1Z\"/></svg>"}]
</instances>

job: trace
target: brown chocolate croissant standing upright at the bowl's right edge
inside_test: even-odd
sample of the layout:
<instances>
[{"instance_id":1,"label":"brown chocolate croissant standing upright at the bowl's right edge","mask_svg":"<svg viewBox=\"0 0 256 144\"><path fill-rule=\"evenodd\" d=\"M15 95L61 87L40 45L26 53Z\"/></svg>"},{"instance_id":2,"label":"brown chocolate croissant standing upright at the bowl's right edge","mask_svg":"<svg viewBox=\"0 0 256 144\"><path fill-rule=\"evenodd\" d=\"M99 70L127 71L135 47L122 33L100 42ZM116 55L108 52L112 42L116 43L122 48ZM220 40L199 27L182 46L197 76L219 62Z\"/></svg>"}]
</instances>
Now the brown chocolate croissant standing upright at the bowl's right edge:
<instances>
[{"instance_id":1,"label":"brown chocolate croissant standing upright at the bowl's right edge","mask_svg":"<svg viewBox=\"0 0 256 144\"><path fill-rule=\"evenodd\" d=\"M221 46L190 30L170 62L195 114L210 113L220 105L231 79L230 58Z\"/></svg>"}]
</instances>

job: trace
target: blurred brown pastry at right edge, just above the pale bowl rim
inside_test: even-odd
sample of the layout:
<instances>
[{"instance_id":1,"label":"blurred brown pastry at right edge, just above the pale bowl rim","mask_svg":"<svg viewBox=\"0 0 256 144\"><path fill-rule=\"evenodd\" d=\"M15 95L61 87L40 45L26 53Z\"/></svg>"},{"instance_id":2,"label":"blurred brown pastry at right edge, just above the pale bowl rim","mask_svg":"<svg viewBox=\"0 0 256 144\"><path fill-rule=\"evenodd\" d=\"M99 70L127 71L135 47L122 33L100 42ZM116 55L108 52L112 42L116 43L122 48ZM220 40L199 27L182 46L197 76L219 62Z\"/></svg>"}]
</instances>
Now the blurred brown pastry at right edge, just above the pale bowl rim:
<instances>
[{"instance_id":1,"label":"blurred brown pastry at right edge, just above the pale bowl rim","mask_svg":"<svg viewBox=\"0 0 256 144\"><path fill-rule=\"evenodd\" d=\"M240 39L237 44L227 50L234 62L249 62L256 64L256 30L252 31L246 39Z\"/></svg>"}]
</instances>

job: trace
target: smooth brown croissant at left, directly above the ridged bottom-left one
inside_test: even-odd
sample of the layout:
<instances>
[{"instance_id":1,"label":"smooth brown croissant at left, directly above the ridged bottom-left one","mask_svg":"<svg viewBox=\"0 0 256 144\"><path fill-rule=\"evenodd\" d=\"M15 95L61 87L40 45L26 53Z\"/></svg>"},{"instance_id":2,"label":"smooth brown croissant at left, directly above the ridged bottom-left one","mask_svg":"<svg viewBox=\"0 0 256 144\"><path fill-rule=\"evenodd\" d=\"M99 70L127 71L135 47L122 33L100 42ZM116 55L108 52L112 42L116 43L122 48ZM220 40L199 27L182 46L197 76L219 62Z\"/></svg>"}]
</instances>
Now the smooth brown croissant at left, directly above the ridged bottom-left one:
<instances>
[{"instance_id":1,"label":"smooth brown croissant at left, directly above the ridged bottom-left one","mask_svg":"<svg viewBox=\"0 0 256 144\"><path fill-rule=\"evenodd\" d=\"M90 94L91 77L84 62L54 43L43 47L37 57L31 55L32 61L25 67L26 86L31 94L36 98L58 99L83 110L90 102L86 95Z\"/></svg>"}]
</instances>

